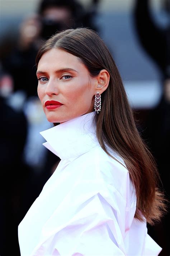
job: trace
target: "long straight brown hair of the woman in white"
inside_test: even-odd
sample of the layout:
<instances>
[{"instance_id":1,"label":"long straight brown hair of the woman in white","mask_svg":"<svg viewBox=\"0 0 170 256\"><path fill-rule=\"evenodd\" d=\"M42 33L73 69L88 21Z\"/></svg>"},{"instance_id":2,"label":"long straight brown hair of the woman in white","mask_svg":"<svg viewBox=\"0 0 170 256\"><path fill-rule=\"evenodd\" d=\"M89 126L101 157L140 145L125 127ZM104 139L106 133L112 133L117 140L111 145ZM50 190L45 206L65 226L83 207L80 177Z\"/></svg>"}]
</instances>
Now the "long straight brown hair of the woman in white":
<instances>
[{"instance_id":1,"label":"long straight brown hair of the woman in white","mask_svg":"<svg viewBox=\"0 0 170 256\"><path fill-rule=\"evenodd\" d=\"M160 178L156 161L137 130L122 78L107 46L98 33L89 28L68 29L52 36L39 49L37 67L42 55L52 48L78 57L92 77L101 69L109 72L109 86L101 94L102 108L95 115L98 141L111 157L106 145L117 152L127 166L137 196L134 217L143 221L144 216L150 224L160 220L165 204L164 196L157 188Z\"/></svg>"}]
</instances>

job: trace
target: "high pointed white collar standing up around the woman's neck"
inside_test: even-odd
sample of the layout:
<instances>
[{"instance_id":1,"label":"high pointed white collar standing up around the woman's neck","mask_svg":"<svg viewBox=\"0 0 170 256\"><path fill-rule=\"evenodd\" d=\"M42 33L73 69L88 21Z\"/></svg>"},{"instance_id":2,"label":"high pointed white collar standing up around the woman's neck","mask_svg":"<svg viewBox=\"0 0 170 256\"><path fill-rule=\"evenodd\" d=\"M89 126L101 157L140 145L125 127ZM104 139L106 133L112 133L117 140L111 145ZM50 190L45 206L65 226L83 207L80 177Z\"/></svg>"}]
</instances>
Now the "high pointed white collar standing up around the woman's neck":
<instances>
[{"instance_id":1,"label":"high pointed white collar standing up around the woman's neck","mask_svg":"<svg viewBox=\"0 0 170 256\"><path fill-rule=\"evenodd\" d=\"M40 134L47 140L43 145L61 160L76 157L99 145L93 122L96 112L84 114Z\"/></svg>"}]
</instances>

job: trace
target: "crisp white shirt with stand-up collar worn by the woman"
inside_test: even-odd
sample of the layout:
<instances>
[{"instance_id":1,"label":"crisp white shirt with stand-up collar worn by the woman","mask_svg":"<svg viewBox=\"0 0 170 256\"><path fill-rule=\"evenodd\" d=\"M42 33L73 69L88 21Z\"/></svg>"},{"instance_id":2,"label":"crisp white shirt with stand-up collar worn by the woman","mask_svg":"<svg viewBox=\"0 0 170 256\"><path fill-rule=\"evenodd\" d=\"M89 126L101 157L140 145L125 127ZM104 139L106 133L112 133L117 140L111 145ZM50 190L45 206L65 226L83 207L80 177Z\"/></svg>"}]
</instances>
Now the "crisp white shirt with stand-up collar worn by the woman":
<instances>
[{"instance_id":1,"label":"crisp white shirt with stand-up collar worn by the woman","mask_svg":"<svg viewBox=\"0 0 170 256\"><path fill-rule=\"evenodd\" d=\"M41 132L61 161L18 226L21 256L159 255L146 221L134 219L123 159L108 156L96 139L95 114Z\"/></svg>"}]
</instances>

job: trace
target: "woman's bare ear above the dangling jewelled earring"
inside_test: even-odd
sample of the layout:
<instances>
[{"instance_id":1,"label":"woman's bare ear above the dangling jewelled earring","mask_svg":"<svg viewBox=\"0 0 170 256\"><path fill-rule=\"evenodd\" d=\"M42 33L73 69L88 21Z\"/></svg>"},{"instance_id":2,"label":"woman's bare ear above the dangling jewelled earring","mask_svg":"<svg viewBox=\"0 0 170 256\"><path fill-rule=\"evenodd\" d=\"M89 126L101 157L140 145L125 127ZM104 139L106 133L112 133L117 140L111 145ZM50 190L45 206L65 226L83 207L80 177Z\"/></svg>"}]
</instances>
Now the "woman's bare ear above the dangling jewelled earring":
<instances>
[{"instance_id":1,"label":"woman's bare ear above the dangling jewelled earring","mask_svg":"<svg viewBox=\"0 0 170 256\"><path fill-rule=\"evenodd\" d=\"M108 85L110 80L109 72L106 69L102 69L99 75L96 77L97 83L95 86L96 92L98 91L100 94L103 93Z\"/></svg>"}]
</instances>

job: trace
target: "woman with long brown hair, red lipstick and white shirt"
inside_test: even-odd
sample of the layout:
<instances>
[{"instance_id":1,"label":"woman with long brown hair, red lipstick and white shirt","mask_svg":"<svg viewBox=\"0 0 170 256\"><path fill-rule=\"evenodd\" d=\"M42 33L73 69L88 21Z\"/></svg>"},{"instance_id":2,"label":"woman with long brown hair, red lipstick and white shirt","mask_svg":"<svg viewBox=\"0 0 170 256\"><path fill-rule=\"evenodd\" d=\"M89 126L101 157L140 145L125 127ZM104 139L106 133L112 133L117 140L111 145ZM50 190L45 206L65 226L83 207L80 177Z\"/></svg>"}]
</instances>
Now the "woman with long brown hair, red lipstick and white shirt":
<instances>
[{"instance_id":1,"label":"woman with long brown hair, red lipstick and white shirt","mask_svg":"<svg viewBox=\"0 0 170 256\"><path fill-rule=\"evenodd\" d=\"M93 30L69 29L36 64L55 125L41 135L61 161L19 224L21 256L159 255L146 228L164 211L158 173L107 46Z\"/></svg>"}]
</instances>

